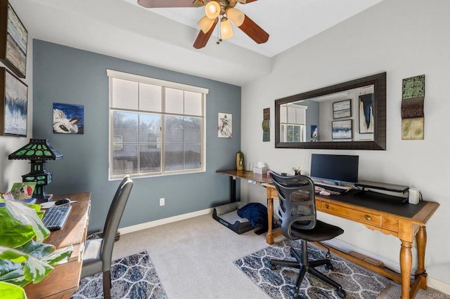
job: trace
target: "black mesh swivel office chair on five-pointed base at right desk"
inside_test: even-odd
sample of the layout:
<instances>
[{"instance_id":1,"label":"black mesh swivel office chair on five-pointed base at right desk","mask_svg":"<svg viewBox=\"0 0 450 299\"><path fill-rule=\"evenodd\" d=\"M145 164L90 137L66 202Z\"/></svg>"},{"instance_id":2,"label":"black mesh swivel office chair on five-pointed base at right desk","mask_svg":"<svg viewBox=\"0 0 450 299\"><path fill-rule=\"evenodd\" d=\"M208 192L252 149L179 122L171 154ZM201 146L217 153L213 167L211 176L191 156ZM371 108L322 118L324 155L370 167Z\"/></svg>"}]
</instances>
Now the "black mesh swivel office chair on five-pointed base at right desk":
<instances>
[{"instance_id":1,"label":"black mesh swivel office chair on five-pointed base at right desk","mask_svg":"<svg viewBox=\"0 0 450 299\"><path fill-rule=\"evenodd\" d=\"M276 265L300 269L295 288L290 290L294 298L299 298L300 285L306 272L334 286L339 297L345 298L346 293L340 284L315 269L315 267L325 265L327 270L333 270L330 252L328 251L323 260L310 261L307 249L308 241L333 239L342 234L344 230L316 219L314 182L311 178L305 175L283 176L274 172L270 173L270 177L280 199L277 215L281 232L291 240L301 239L302 245L302 255L294 248L290 248L290 255L296 261L271 260L272 270L276 270Z\"/></svg>"}]
</instances>

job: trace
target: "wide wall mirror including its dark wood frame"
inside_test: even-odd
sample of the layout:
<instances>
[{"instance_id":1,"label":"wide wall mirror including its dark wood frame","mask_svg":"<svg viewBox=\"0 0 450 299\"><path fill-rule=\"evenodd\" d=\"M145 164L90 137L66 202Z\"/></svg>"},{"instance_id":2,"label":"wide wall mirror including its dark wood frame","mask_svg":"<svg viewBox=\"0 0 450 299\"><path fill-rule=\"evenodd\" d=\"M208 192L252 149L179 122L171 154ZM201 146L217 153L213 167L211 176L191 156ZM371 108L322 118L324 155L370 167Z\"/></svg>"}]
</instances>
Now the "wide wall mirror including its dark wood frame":
<instances>
[{"instance_id":1,"label":"wide wall mirror including its dark wood frame","mask_svg":"<svg viewBox=\"0 0 450 299\"><path fill-rule=\"evenodd\" d=\"M275 100L275 147L386 150L386 73Z\"/></svg>"}]
</instances>

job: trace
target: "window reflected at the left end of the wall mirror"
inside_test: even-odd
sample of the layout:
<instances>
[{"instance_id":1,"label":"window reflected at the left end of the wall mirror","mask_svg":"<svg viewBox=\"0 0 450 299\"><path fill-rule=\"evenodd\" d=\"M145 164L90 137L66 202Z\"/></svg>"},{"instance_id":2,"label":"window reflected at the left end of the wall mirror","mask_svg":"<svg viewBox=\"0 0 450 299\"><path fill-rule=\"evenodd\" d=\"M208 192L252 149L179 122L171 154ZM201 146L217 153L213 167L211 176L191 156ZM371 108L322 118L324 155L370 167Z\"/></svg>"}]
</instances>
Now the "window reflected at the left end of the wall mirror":
<instances>
[{"instance_id":1,"label":"window reflected at the left end of the wall mirror","mask_svg":"<svg viewBox=\"0 0 450 299\"><path fill-rule=\"evenodd\" d=\"M280 110L281 142L306 141L307 106L282 106Z\"/></svg>"}]
</instances>

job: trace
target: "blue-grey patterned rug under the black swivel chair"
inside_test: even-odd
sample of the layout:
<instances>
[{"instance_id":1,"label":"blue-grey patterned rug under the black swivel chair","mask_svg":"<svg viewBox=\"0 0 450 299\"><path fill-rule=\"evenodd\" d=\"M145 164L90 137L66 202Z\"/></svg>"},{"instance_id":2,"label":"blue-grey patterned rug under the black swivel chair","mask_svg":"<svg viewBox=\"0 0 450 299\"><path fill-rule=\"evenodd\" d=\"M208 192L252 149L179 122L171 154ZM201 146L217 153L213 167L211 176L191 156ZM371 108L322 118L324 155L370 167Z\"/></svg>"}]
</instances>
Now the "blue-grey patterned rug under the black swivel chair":
<instances>
[{"instance_id":1,"label":"blue-grey patterned rug under the black swivel chair","mask_svg":"<svg viewBox=\"0 0 450 299\"><path fill-rule=\"evenodd\" d=\"M234 264L270 298L292 298L289 291L295 285L298 270L280 266L277 266L277 270L271 270L270 266L271 259L295 260L295 258L290 256L291 246L302 252L300 241L281 241L261 251L235 260ZM325 258L326 251L321 248L308 244L308 251L310 260ZM333 271L326 270L325 266L320 266L316 269L338 281L347 293L347 299L375 299L390 284L390 279L344 260L333 253L332 263L334 266ZM300 298L339 299L339 296L333 286L307 273L300 288Z\"/></svg>"}]
</instances>

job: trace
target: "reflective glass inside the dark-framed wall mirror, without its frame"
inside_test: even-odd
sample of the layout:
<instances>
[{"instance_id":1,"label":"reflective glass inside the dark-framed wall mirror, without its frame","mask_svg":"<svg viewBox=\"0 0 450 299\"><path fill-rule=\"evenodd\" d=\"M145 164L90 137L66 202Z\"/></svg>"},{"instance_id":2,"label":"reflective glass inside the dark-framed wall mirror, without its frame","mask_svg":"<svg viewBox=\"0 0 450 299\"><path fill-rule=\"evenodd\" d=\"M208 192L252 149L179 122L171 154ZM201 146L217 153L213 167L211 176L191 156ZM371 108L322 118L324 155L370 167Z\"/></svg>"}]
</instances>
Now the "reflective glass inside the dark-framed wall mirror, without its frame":
<instances>
[{"instance_id":1,"label":"reflective glass inside the dark-framed wall mirror, without its frame","mask_svg":"<svg viewBox=\"0 0 450 299\"><path fill-rule=\"evenodd\" d=\"M281 105L280 141L373 141L373 99L372 84Z\"/></svg>"}]
</instances>

